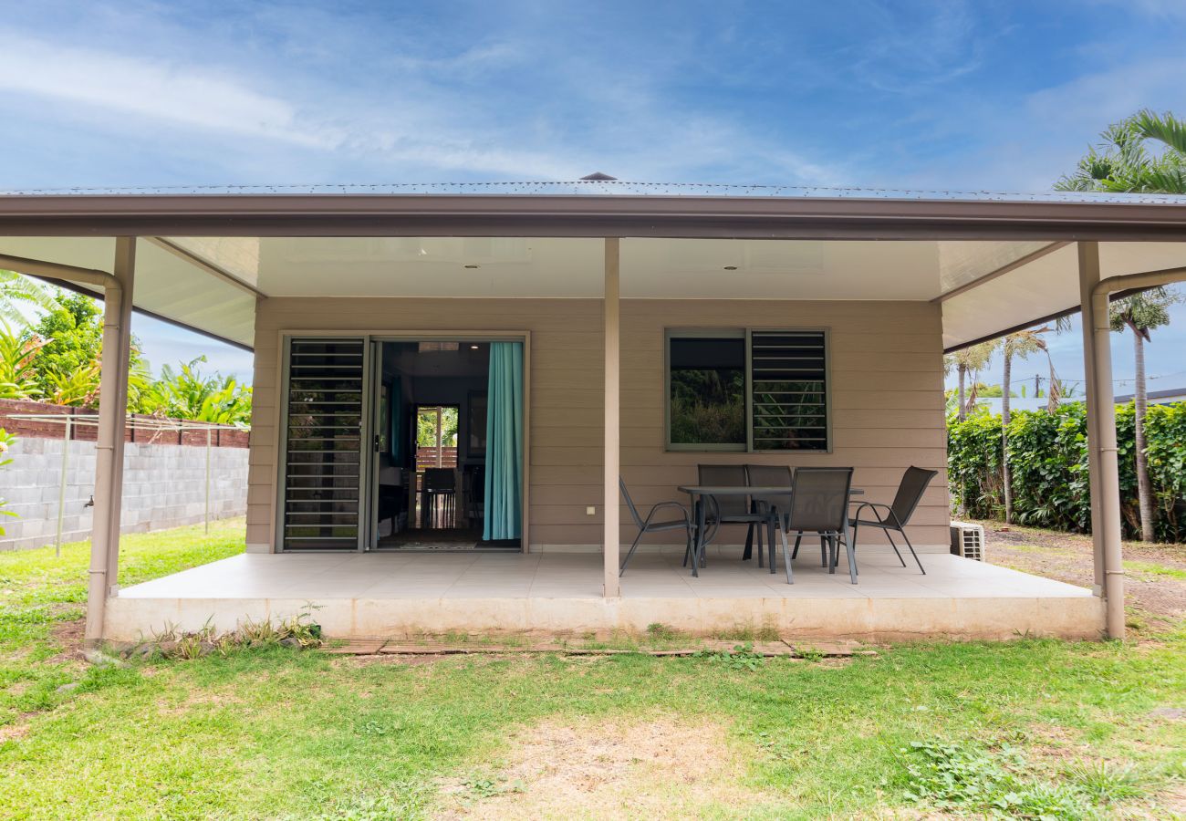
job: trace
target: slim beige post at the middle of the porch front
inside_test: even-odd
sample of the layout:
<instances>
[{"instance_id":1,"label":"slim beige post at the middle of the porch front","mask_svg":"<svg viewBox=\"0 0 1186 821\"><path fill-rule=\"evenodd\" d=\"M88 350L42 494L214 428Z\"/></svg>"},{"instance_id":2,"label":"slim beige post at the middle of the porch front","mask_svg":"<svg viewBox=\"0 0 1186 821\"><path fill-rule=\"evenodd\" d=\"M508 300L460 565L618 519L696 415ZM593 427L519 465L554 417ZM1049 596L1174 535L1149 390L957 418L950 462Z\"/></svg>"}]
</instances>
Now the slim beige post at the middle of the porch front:
<instances>
[{"instance_id":1,"label":"slim beige post at the middle of the porch front","mask_svg":"<svg viewBox=\"0 0 1186 821\"><path fill-rule=\"evenodd\" d=\"M618 507L618 476L621 444L620 437L620 387L618 378L620 322L619 322L619 265L620 240L605 240L605 499L604 521L605 536L602 555L605 559L605 597L621 596L618 581L618 553L620 543Z\"/></svg>"}]
</instances>

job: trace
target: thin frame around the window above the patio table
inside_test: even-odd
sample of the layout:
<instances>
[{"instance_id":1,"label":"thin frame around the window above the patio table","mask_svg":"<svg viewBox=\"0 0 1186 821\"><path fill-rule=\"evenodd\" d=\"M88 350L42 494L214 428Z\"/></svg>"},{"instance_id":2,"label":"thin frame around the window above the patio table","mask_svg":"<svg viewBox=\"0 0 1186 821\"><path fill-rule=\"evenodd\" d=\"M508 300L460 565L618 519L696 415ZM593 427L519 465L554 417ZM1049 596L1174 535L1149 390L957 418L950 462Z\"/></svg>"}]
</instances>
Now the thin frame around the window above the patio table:
<instances>
[{"instance_id":1,"label":"thin frame around the window above the patio table","mask_svg":"<svg viewBox=\"0 0 1186 821\"><path fill-rule=\"evenodd\" d=\"M753 335L822 333L824 378L824 435L822 450L761 450L753 446ZM745 444L683 444L671 441L671 341L745 339ZM831 329L829 327L665 327L663 329L663 450L667 453L831 453Z\"/></svg>"}]
</instances>

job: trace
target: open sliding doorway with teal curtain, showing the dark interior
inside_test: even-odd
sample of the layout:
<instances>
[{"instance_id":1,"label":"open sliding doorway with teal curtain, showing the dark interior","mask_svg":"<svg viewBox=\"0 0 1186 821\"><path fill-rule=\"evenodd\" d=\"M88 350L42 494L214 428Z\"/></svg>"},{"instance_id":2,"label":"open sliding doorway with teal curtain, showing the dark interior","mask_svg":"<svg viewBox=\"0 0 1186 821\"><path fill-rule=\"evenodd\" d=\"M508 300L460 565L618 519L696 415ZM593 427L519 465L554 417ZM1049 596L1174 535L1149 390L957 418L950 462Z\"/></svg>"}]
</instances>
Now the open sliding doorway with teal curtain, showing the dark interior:
<instances>
[{"instance_id":1,"label":"open sliding doorway with teal curtain, showing the dark interior","mask_svg":"<svg viewBox=\"0 0 1186 821\"><path fill-rule=\"evenodd\" d=\"M369 548L518 549L523 343L401 339L372 346Z\"/></svg>"}]
</instances>

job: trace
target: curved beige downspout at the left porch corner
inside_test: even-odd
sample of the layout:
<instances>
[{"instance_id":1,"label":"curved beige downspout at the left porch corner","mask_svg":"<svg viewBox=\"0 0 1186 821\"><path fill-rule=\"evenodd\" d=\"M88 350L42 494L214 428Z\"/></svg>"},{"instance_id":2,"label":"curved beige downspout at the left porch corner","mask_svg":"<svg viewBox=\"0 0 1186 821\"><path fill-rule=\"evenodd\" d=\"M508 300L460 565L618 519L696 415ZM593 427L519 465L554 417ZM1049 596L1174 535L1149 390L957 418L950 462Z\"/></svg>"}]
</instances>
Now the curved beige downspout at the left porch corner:
<instances>
[{"instance_id":1,"label":"curved beige downspout at the left porch corner","mask_svg":"<svg viewBox=\"0 0 1186 821\"><path fill-rule=\"evenodd\" d=\"M57 262L45 262L43 260L28 260L23 256L9 256L0 254L0 266L23 274L33 274L46 279L59 279L69 282L85 282L103 288L103 350L119 351L120 349L120 323L119 317L123 307L123 287L115 274L95 268L79 268L71 265ZM116 359L117 361L117 359ZM102 399L102 395L101 395ZM114 464L113 443L103 441L104 432L102 427L98 432L100 441L96 443L95 475L98 477L111 476ZM69 443L66 443L69 445ZM104 517L108 505L95 507L95 518ZM90 541L90 573L87 585L87 641L97 642L103 635L103 619L107 610L107 596L110 584L107 578L110 559L108 556L110 523L107 521L95 521L91 524ZM110 580L114 583L114 579Z\"/></svg>"}]
</instances>

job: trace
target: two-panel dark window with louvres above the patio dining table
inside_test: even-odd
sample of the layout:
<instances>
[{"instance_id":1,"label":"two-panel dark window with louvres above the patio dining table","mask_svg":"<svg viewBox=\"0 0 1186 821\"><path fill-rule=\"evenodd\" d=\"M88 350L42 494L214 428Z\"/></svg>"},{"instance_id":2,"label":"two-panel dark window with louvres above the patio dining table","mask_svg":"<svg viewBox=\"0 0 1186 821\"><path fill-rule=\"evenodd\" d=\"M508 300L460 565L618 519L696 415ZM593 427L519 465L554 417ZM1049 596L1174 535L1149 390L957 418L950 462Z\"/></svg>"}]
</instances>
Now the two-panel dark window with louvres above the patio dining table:
<instances>
[{"instance_id":1,"label":"two-panel dark window with louvres above the patio dining table","mask_svg":"<svg viewBox=\"0 0 1186 821\"><path fill-rule=\"evenodd\" d=\"M830 450L825 331L668 331L667 387L669 450Z\"/></svg>"}]
</instances>

